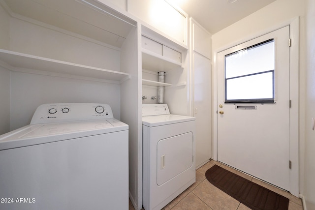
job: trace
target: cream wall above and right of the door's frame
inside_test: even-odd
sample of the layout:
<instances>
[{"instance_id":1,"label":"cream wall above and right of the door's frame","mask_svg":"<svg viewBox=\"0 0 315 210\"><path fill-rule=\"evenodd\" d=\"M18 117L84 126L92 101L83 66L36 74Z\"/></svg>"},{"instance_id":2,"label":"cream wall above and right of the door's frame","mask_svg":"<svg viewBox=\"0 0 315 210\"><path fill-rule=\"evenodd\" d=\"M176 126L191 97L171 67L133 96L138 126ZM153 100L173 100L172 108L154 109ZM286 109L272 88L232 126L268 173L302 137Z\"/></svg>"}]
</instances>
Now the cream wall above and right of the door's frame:
<instances>
[{"instance_id":1,"label":"cream wall above and right of the door's frame","mask_svg":"<svg viewBox=\"0 0 315 210\"><path fill-rule=\"evenodd\" d=\"M280 12L281 11L281 12ZM300 36L305 34L305 0L277 0L268 6L254 12L239 22L213 34L212 50L213 52L222 51L232 45L247 41L248 39L261 35L262 32L275 29L284 23L300 16ZM215 57L215 54L214 54ZM304 84L305 74L305 43L300 39L300 84ZM214 58L215 60L215 58ZM216 81L213 81L216 83ZM304 129L304 87L300 87L300 130ZM299 189L303 193L304 189L304 132L300 132L299 145Z\"/></svg>"}]
</instances>

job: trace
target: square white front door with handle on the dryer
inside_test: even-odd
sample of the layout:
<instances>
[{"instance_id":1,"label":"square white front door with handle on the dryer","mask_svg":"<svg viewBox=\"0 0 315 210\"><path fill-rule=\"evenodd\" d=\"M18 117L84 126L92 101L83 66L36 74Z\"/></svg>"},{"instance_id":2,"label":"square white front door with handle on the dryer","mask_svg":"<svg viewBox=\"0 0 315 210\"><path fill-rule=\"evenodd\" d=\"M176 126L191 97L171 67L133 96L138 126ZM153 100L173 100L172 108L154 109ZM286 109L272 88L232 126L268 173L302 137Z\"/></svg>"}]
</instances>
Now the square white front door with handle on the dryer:
<instances>
[{"instance_id":1,"label":"square white front door with handle on the dryer","mask_svg":"<svg viewBox=\"0 0 315 210\"><path fill-rule=\"evenodd\" d=\"M191 132L158 141L157 184L176 177L193 163L193 135Z\"/></svg>"}]
</instances>

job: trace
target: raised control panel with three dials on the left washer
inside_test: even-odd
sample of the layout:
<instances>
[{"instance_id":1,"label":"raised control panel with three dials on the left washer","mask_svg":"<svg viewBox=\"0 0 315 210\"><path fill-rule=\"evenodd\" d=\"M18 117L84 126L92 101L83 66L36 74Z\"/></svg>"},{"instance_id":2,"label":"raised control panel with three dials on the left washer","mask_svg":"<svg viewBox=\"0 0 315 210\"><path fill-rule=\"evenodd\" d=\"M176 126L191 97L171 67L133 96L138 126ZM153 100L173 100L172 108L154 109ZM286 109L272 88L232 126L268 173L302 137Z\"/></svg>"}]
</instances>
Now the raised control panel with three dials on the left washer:
<instances>
[{"instance_id":1,"label":"raised control panel with three dials on the left washer","mask_svg":"<svg viewBox=\"0 0 315 210\"><path fill-rule=\"evenodd\" d=\"M31 124L114 118L108 104L55 103L37 107Z\"/></svg>"}]
</instances>

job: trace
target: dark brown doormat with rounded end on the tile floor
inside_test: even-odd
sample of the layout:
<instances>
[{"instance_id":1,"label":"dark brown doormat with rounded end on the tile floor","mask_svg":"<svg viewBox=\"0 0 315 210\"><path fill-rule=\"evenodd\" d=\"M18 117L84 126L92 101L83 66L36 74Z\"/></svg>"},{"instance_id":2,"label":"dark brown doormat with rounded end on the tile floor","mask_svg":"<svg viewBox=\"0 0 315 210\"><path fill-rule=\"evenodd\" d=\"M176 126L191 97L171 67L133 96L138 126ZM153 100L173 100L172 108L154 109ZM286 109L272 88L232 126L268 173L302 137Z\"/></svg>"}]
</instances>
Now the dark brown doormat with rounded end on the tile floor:
<instances>
[{"instance_id":1,"label":"dark brown doormat with rounded end on the tile floor","mask_svg":"<svg viewBox=\"0 0 315 210\"><path fill-rule=\"evenodd\" d=\"M289 199L218 165L206 171L207 180L252 210L288 210Z\"/></svg>"}]
</instances>

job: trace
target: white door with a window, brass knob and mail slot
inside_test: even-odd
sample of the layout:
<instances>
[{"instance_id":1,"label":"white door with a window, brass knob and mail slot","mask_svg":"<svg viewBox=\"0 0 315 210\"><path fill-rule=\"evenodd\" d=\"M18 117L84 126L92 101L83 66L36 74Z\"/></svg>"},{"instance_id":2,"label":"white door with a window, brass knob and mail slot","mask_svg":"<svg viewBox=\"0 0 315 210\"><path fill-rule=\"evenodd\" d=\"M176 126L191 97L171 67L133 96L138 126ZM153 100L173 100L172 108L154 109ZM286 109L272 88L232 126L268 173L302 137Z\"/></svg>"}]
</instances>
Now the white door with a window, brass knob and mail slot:
<instances>
[{"instance_id":1,"label":"white door with a window, brass knob and mail slot","mask_svg":"<svg viewBox=\"0 0 315 210\"><path fill-rule=\"evenodd\" d=\"M218 160L290 191L289 26L218 54Z\"/></svg>"}]
</instances>

